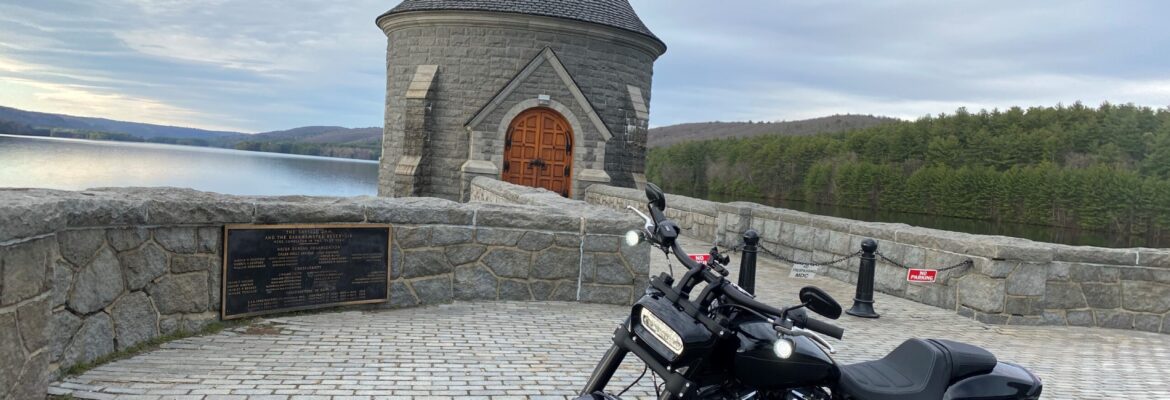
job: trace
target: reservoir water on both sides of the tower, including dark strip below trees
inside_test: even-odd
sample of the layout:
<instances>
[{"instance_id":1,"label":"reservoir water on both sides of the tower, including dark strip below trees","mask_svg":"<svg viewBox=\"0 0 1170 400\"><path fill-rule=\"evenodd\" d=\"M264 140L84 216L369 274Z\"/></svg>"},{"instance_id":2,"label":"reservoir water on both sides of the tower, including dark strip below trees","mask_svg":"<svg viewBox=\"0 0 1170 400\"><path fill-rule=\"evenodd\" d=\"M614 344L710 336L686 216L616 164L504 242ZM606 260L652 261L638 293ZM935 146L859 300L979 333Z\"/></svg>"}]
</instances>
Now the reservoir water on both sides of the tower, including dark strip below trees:
<instances>
[{"instance_id":1,"label":"reservoir water on both sides of the tower, including dark strip below trees","mask_svg":"<svg viewBox=\"0 0 1170 400\"><path fill-rule=\"evenodd\" d=\"M245 195L376 195L378 163L164 144L0 135L0 187L78 191L106 186L173 186ZM687 194L687 193L682 193ZM694 194L688 194L694 195ZM703 198L703 195L696 195ZM861 221L908 225L1040 242L1101 247L1170 247L1170 237L994 223L935 215L874 212L799 201L753 201Z\"/></svg>"}]
</instances>

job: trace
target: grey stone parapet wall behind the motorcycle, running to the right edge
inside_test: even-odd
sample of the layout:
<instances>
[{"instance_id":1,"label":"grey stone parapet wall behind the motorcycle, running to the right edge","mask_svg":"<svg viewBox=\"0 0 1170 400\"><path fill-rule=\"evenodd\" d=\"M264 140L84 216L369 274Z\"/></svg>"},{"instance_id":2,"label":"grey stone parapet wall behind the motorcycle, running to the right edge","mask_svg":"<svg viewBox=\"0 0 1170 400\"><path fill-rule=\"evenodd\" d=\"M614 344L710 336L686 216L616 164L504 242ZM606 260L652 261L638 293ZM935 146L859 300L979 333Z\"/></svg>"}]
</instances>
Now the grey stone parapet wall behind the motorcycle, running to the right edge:
<instances>
[{"instance_id":1,"label":"grey stone parapet wall behind the motorcycle, running to the right edge","mask_svg":"<svg viewBox=\"0 0 1170 400\"><path fill-rule=\"evenodd\" d=\"M646 204L641 191L612 186L590 187L585 200L611 208L642 209ZM1041 243L679 195L667 195L667 215L680 220L684 235L707 239L715 236L714 229L720 243L729 247L741 242L746 229L756 229L765 248L796 261L851 255L866 237L878 241L878 251L911 268L941 268L970 258L973 267L940 271L936 283L909 283L906 269L879 258L874 287L984 323L1170 333L1168 249ZM858 267L853 258L821 267L821 274L855 283Z\"/></svg>"}]
</instances>

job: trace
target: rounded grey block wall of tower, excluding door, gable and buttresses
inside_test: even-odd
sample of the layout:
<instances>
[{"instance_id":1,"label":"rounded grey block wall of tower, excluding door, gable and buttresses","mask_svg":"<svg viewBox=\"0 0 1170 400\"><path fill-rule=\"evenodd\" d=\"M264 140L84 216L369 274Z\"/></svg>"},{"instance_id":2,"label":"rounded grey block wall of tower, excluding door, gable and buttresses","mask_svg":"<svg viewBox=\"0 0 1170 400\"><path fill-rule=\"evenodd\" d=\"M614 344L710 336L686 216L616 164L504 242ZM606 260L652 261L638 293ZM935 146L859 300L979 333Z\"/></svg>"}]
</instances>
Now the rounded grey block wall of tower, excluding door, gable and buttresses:
<instances>
[{"instance_id":1,"label":"rounded grey block wall of tower, excluding door, gable and buttresses","mask_svg":"<svg viewBox=\"0 0 1170 400\"><path fill-rule=\"evenodd\" d=\"M455 12L441 14L453 13ZM468 159L469 151L464 124L546 47L558 54L565 69L614 135L610 142L591 144L593 147L604 146L607 153L604 167L614 185L633 186L632 174L642 171L629 171L629 166L642 164L628 163L628 158L645 158L645 143L635 147L641 149L641 153L627 154L624 142L627 139L626 131L628 126L636 124L627 118L632 105L626 85L640 88L646 104L649 104L651 76L658 55L628 43L601 39L591 34L591 29L613 29L584 22L503 13L467 14L476 16L476 22L459 19L440 22L432 19L395 26L386 32L387 82L380 193L392 194L386 191L385 186L390 185L386 177L392 175L399 154L402 154L405 94L418 65L439 65L432 89L433 99L428 103L434 113L434 130L428 144L434 151L427 154L431 164L421 172L431 180L421 193L459 200L460 167ZM498 21L493 22L486 15L493 15ZM406 18L412 16L395 15L383 22ZM544 28L512 21L516 19L537 20ZM552 29L549 28L552 26L558 28L545 30ZM555 99L563 104L576 102L565 96ZM511 105L503 104L501 108L507 110ZM583 123L586 122L584 115L578 117L583 118ZM488 131L480 135L494 135L497 124L498 122L487 124L490 129L484 127ZM592 126L586 130L576 132L580 136L577 140L584 142L585 136L594 135L589 132L593 130ZM645 140L644 137L640 139ZM483 159L502 156L502 147L484 146L476 151L493 152L484 154Z\"/></svg>"}]
</instances>

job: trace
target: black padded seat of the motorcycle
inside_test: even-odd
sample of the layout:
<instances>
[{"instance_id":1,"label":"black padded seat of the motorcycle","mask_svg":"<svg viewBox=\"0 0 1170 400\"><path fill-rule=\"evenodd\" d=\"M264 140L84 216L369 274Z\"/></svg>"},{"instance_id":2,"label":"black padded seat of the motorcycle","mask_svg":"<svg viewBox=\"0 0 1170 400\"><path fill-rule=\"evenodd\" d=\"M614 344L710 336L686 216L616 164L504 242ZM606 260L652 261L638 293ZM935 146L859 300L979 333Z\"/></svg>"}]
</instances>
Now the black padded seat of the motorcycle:
<instances>
[{"instance_id":1,"label":"black padded seat of the motorcycle","mask_svg":"<svg viewBox=\"0 0 1170 400\"><path fill-rule=\"evenodd\" d=\"M839 387L853 399L940 399L952 382L990 372L996 363L990 352L969 344L909 339L879 360L841 366Z\"/></svg>"}]
</instances>

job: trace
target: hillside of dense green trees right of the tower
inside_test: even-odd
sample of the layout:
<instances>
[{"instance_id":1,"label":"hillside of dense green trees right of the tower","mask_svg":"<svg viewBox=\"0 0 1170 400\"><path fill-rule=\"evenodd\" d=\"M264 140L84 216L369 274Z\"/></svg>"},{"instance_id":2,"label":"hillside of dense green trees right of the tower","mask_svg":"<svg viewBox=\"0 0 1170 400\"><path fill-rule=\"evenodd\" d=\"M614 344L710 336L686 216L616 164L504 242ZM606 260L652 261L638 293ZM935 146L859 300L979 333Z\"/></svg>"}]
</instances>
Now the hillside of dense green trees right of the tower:
<instances>
[{"instance_id":1,"label":"hillside of dense green trees right of the tower","mask_svg":"<svg viewBox=\"0 0 1170 400\"><path fill-rule=\"evenodd\" d=\"M1170 110L959 109L834 135L653 149L667 191L1170 233Z\"/></svg>"}]
</instances>

